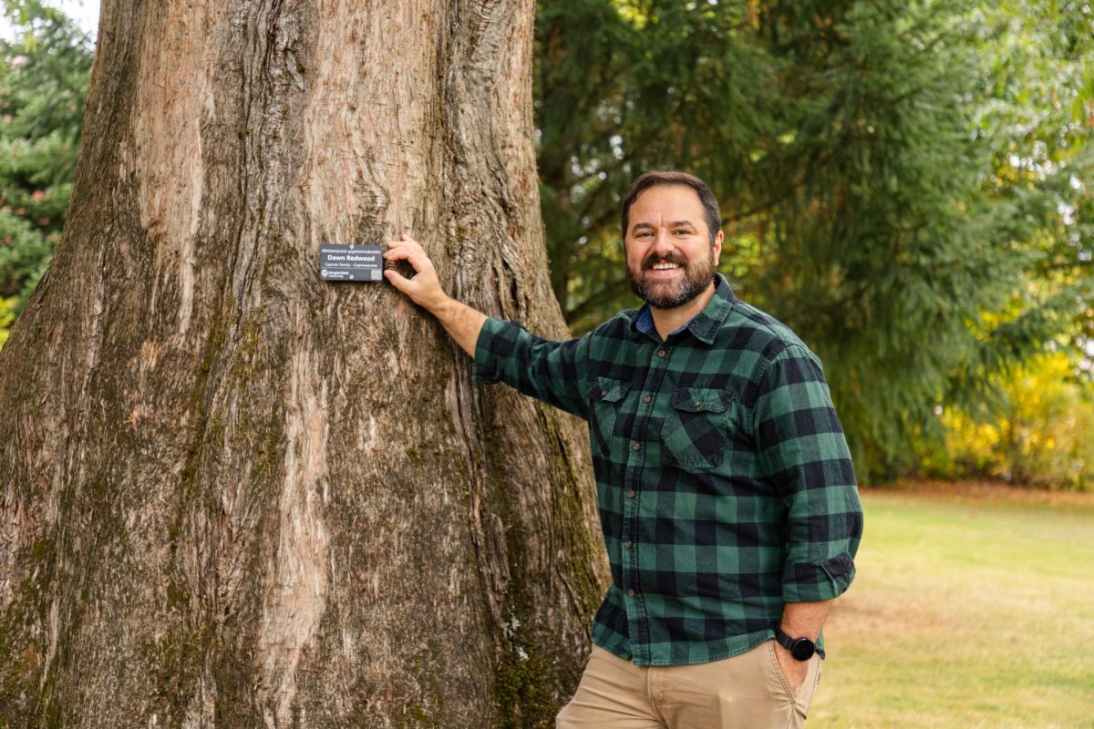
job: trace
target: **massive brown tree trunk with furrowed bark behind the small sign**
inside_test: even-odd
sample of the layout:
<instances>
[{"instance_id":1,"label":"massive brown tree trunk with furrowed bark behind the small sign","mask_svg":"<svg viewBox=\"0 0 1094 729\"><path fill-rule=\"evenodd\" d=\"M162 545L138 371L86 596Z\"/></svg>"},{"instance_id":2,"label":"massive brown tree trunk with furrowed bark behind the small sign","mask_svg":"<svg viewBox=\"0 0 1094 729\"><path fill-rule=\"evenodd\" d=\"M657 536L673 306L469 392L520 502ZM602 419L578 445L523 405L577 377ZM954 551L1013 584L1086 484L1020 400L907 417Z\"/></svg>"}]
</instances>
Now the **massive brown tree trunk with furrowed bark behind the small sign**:
<instances>
[{"instance_id":1,"label":"massive brown tree trunk with furrowed bark behind the small sign","mask_svg":"<svg viewBox=\"0 0 1094 729\"><path fill-rule=\"evenodd\" d=\"M322 243L565 336L532 0L106 0L0 355L0 726L545 726L604 575L586 435Z\"/></svg>"}]
</instances>

